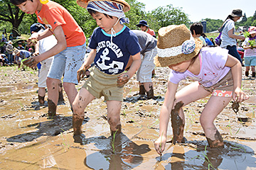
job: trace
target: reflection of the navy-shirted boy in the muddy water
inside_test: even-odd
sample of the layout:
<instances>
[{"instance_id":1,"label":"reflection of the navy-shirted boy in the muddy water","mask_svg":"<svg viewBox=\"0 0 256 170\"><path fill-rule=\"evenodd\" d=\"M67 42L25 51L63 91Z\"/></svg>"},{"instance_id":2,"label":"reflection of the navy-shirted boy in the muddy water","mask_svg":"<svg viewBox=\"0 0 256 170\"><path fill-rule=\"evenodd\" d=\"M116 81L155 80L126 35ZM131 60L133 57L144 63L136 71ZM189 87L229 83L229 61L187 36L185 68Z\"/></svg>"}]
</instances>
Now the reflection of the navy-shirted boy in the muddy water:
<instances>
[{"instance_id":1,"label":"reflection of the navy-shirted boy in the muddy water","mask_svg":"<svg viewBox=\"0 0 256 170\"><path fill-rule=\"evenodd\" d=\"M149 145L137 145L123 133L117 135L114 139L114 152L112 149L112 137L101 137L101 139L97 140L98 142L95 143L95 146L100 149L103 147L104 149L85 157L84 164L91 169L133 169L142 163L142 154L151 150Z\"/></svg>"}]
</instances>

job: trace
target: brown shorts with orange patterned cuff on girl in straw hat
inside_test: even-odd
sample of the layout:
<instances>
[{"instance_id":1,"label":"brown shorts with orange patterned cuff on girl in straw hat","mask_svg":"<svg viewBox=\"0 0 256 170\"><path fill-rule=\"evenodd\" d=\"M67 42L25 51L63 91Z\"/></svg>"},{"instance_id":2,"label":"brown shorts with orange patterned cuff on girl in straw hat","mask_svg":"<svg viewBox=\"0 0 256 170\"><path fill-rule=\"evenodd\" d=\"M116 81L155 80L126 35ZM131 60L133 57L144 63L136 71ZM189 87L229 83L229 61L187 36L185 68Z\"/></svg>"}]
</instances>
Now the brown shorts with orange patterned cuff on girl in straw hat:
<instances>
[{"instance_id":1,"label":"brown shorts with orange patterned cuff on girl in straw hat","mask_svg":"<svg viewBox=\"0 0 256 170\"><path fill-rule=\"evenodd\" d=\"M228 74L223 77L218 83L214 84L210 87L202 86L203 89L209 91L213 94L213 96L223 96L223 97L231 97L233 92L233 76L231 70Z\"/></svg>"}]
</instances>

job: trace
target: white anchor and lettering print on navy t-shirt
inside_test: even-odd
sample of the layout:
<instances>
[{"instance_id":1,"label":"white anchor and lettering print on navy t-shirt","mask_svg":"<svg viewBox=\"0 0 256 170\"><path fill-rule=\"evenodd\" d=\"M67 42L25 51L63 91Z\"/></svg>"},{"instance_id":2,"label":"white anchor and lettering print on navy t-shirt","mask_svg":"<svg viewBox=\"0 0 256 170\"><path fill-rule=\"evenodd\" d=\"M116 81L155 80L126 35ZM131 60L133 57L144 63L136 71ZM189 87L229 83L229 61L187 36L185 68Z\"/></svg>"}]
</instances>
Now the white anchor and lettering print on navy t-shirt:
<instances>
[{"instance_id":1,"label":"white anchor and lettering print on navy t-shirt","mask_svg":"<svg viewBox=\"0 0 256 170\"><path fill-rule=\"evenodd\" d=\"M100 69L102 69L102 70L109 69L110 73L117 74L119 69L124 68L124 63L113 61L112 63L106 65L105 61L111 60L111 58L107 56L110 54L110 50L107 47L109 47L111 50L113 50L115 55L117 55L117 58L122 57L123 54L117 45L112 43L112 45L110 46L110 44L111 44L110 41L102 41L102 42L98 43L97 52L99 52L100 49L102 49L102 48L105 48L105 50L103 50L102 55L100 55L100 58L99 58L99 60L97 60L96 63L97 63L97 66L100 67Z\"/></svg>"}]
</instances>

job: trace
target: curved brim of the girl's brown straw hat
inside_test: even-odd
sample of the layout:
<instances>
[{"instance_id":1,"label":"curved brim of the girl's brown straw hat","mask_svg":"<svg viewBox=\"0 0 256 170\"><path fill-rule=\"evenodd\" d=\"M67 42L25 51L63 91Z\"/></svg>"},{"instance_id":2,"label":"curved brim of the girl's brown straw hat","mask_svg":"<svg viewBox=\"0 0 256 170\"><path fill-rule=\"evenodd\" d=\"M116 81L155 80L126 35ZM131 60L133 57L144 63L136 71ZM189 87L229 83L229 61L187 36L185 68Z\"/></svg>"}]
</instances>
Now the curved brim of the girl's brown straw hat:
<instances>
[{"instance_id":1,"label":"curved brim of the girl's brown straw hat","mask_svg":"<svg viewBox=\"0 0 256 170\"><path fill-rule=\"evenodd\" d=\"M156 65L156 67L168 67L169 65L178 64L181 62L185 62L187 60L191 60L193 57L198 55L201 48L203 47L203 42L200 40L200 38L195 38L195 42L196 48L191 54L184 55L182 53L180 55L170 57L159 57L158 55L156 55L156 57L154 57L154 64Z\"/></svg>"}]
</instances>

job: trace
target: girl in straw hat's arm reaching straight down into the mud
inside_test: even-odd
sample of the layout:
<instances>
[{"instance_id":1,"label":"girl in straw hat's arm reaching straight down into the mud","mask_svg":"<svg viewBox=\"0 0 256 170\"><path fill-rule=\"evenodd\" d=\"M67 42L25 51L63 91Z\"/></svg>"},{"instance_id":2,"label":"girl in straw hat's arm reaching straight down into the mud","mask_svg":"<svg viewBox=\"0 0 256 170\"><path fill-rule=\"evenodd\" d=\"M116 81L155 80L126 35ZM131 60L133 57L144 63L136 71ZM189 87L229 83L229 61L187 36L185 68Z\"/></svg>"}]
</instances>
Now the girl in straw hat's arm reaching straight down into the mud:
<instances>
[{"instance_id":1,"label":"girl in straw hat's arm reaching straight down into the mud","mask_svg":"<svg viewBox=\"0 0 256 170\"><path fill-rule=\"evenodd\" d=\"M173 84L168 81L167 91L164 98L164 104L161 106L160 118L159 118L159 138L154 142L156 152L161 155L164 152L166 145L167 128L171 115L171 109L174 106L175 94L178 88L178 84Z\"/></svg>"}]
</instances>

